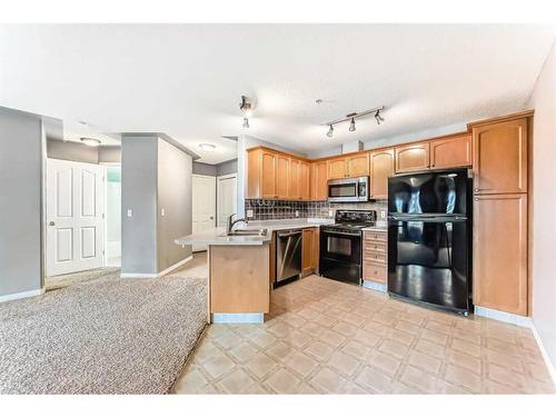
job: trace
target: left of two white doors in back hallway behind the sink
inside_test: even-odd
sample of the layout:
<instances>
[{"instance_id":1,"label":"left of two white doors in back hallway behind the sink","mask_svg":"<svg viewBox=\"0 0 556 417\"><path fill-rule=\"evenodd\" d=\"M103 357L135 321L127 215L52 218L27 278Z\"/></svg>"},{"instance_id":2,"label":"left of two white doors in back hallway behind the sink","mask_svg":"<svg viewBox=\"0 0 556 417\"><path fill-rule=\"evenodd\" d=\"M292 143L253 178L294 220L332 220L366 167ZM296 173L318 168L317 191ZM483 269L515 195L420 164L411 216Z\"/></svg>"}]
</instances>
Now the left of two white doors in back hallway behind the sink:
<instances>
[{"instance_id":1,"label":"left of two white doors in back hallway behind the sink","mask_svg":"<svg viewBox=\"0 0 556 417\"><path fill-rule=\"evenodd\" d=\"M216 177L192 176L192 232L216 226ZM193 246L193 251L207 250L207 246Z\"/></svg>"}]
</instances>

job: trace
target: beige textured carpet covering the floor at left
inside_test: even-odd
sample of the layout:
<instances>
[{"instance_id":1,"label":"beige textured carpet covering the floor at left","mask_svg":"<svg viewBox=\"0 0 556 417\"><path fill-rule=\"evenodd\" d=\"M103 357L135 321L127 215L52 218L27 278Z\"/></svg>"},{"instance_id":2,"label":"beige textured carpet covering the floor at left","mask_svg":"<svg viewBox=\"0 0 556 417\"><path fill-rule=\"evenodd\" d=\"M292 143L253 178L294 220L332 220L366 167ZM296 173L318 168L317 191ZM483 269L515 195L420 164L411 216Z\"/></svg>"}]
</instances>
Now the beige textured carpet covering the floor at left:
<instances>
[{"instance_id":1,"label":"beige textured carpet covering the floor at left","mask_svg":"<svg viewBox=\"0 0 556 417\"><path fill-rule=\"evenodd\" d=\"M0 305L0 394L170 390L206 326L207 281L119 272Z\"/></svg>"}]
</instances>

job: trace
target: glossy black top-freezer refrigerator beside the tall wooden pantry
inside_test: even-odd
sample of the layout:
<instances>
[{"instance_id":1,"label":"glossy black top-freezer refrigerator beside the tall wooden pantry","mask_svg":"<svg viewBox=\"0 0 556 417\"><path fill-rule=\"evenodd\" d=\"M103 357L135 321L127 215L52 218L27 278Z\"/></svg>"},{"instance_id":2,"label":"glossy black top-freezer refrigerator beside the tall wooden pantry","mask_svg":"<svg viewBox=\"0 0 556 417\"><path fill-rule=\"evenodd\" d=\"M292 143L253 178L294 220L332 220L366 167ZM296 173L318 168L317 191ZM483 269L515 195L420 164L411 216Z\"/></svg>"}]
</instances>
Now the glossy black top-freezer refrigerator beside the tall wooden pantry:
<instances>
[{"instance_id":1,"label":"glossy black top-freezer refrigerator beside the tall wooden pantry","mask_svg":"<svg viewBox=\"0 0 556 417\"><path fill-rule=\"evenodd\" d=\"M388 179L388 294L463 315L471 304L467 169Z\"/></svg>"}]
</instances>

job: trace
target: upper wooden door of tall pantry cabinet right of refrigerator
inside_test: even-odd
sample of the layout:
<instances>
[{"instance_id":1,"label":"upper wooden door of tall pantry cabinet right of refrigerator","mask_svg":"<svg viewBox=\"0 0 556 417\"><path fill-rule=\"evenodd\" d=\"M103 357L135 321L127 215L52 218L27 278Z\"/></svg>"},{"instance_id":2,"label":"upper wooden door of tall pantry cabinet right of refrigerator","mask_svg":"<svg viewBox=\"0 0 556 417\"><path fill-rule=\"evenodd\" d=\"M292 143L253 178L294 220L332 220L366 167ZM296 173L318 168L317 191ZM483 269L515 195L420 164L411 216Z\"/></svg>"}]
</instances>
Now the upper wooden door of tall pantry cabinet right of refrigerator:
<instances>
[{"instance_id":1,"label":"upper wooden door of tall pantry cabinet right of refrigerator","mask_svg":"<svg viewBox=\"0 0 556 417\"><path fill-rule=\"evenodd\" d=\"M473 128L475 193L527 192L527 118Z\"/></svg>"}]
</instances>

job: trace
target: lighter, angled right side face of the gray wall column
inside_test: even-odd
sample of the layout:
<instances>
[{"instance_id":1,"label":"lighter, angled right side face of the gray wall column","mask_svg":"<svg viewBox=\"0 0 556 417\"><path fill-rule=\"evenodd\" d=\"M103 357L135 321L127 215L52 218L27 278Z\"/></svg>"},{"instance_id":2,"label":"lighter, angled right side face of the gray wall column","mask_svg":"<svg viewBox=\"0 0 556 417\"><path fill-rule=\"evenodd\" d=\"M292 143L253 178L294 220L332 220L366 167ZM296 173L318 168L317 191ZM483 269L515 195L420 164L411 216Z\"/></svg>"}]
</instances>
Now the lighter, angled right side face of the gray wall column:
<instances>
[{"instance_id":1,"label":"lighter, angled right side face of the gray wall column","mask_svg":"<svg viewBox=\"0 0 556 417\"><path fill-rule=\"evenodd\" d=\"M173 242L191 234L191 156L159 139L158 271L191 256L190 246L181 248Z\"/></svg>"}]
</instances>

